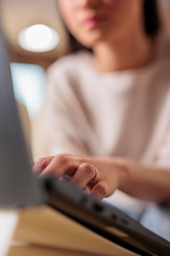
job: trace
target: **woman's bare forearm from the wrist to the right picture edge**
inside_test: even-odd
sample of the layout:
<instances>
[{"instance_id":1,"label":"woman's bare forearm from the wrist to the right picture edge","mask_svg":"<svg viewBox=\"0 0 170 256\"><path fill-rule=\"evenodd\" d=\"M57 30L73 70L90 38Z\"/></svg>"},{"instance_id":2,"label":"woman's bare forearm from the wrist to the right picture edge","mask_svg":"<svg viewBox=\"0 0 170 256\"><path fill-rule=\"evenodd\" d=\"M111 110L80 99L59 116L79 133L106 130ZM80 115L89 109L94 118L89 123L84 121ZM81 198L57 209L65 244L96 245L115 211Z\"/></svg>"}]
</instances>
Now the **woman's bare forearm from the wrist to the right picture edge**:
<instances>
[{"instance_id":1,"label":"woman's bare forearm from the wrist to the right picture edge","mask_svg":"<svg viewBox=\"0 0 170 256\"><path fill-rule=\"evenodd\" d=\"M170 172L157 166L146 166L127 160L126 182L119 189L128 195L163 202L170 200Z\"/></svg>"}]
</instances>

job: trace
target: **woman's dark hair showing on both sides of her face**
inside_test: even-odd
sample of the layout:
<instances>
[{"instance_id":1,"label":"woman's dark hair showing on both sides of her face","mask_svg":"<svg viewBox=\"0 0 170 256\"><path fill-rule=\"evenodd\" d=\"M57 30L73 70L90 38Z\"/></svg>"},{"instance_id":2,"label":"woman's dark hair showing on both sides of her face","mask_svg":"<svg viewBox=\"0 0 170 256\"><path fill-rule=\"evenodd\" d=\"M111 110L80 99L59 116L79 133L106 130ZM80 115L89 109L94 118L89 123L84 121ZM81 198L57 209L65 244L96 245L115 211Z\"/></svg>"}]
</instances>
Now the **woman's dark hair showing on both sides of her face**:
<instances>
[{"instance_id":1,"label":"woman's dark hair showing on both sides of her face","mask_svg":"<svg viewBox=\"0 0 170 256\"><path fill-rule=\"evenodd\" d=\"M161 27L161 21L159 19L158 2L157 0L145 0L144 1L144 29L148 36L156 36ZM81 43L79 43L66 29L70 39L71 52L77 52L82 49L87 49ZM91 51L91 49L88 49Z\"/></svg>"}]
</instances>

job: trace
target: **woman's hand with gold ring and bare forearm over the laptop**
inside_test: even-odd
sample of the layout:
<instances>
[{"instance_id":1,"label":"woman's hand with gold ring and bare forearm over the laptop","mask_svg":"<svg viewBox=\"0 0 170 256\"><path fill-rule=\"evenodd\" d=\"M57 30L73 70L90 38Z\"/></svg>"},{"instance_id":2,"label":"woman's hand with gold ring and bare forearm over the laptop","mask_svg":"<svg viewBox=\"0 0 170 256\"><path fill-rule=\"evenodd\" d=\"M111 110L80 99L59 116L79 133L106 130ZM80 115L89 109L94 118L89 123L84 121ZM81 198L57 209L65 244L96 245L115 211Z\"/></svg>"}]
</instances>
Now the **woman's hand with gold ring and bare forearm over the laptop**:
<instances>
[{"instance_id":1,"label":"woman's hand with gold ring and bare forearm over the laptop","mask_svg":"<svg viewBox=\"0 0 170 256\"><path fill-rule=\"evenodd\" d=\"M93 166L97 169L96 178ZM41 175L68 177L99 200L112 195L116 189L152 202L170 200L170 171L126 158L62 154L38 159L33 169Z\"/></svg>"}]
</instances>

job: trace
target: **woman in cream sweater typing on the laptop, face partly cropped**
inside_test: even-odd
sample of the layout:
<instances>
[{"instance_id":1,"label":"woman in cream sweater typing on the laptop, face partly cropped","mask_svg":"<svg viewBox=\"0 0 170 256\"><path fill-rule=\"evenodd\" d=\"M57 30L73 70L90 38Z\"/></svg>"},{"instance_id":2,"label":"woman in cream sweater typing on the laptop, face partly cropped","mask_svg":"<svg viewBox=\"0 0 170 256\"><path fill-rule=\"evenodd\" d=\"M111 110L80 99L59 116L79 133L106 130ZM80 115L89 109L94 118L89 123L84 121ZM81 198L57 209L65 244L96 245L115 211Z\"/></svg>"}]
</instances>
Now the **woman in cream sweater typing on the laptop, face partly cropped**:
<instances>
[{"instance_id":1,"label":"woman in cream sweater typing on the laptop, face partly cropped","mask_svg":"<svg viewBox=\"0 0 170 256\"><path fill-rule=\"evenodd\" d=\"M49 68L48 139L56 156L34 169L69 177L99 200L116 191L111 202L135 214L169 200L170 48L157 36L156 1L58 4L68 31L91 52Z\"/></svg>"}]
</instances>

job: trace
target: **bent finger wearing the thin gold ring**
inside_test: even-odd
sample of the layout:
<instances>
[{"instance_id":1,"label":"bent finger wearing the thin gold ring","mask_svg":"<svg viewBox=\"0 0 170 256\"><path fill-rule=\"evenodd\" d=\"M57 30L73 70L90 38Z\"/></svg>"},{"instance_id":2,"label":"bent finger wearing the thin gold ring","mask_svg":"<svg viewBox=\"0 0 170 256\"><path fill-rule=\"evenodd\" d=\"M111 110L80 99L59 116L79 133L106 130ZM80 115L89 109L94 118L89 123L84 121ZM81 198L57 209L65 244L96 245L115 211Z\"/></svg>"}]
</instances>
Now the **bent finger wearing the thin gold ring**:
<instances>
[{"instance_id":1,"label":"bent finger wearing the thin gold ring","mask_svg":"<svg viewBox=\"0 0 170 256\"><path fill-rule=\"evenodd\" d=\"M88 182L93 180L95 175L96 172L94 167L90 164L83 163L77 168L77 171L73 175L71 182L79 186L80 189L84 189Z\"/></svg>"}]
</instances>

